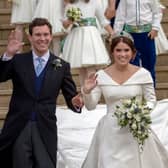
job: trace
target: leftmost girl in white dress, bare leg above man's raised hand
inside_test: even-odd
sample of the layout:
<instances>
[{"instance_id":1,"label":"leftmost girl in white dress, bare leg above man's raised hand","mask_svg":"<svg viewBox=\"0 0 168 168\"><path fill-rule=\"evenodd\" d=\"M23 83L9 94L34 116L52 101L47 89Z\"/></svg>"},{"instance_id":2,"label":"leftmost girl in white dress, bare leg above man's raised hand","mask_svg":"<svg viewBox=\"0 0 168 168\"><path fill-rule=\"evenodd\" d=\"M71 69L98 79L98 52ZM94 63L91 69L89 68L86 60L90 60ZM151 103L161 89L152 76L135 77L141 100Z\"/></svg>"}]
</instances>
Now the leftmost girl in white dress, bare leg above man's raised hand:
<instances>
[{"instance_id":1,"label":"leftmost girl in white dress, bare leg above man's raised hand","mask_svg":"<svg viewBox=\"0 0 168 168\"><path fill-rule=\"evenodd\" d=\"M11 0L11 24L15 25L17 39L22 42L23 28L32 21L36 0Z\"/></svg>"}]
</instances>

